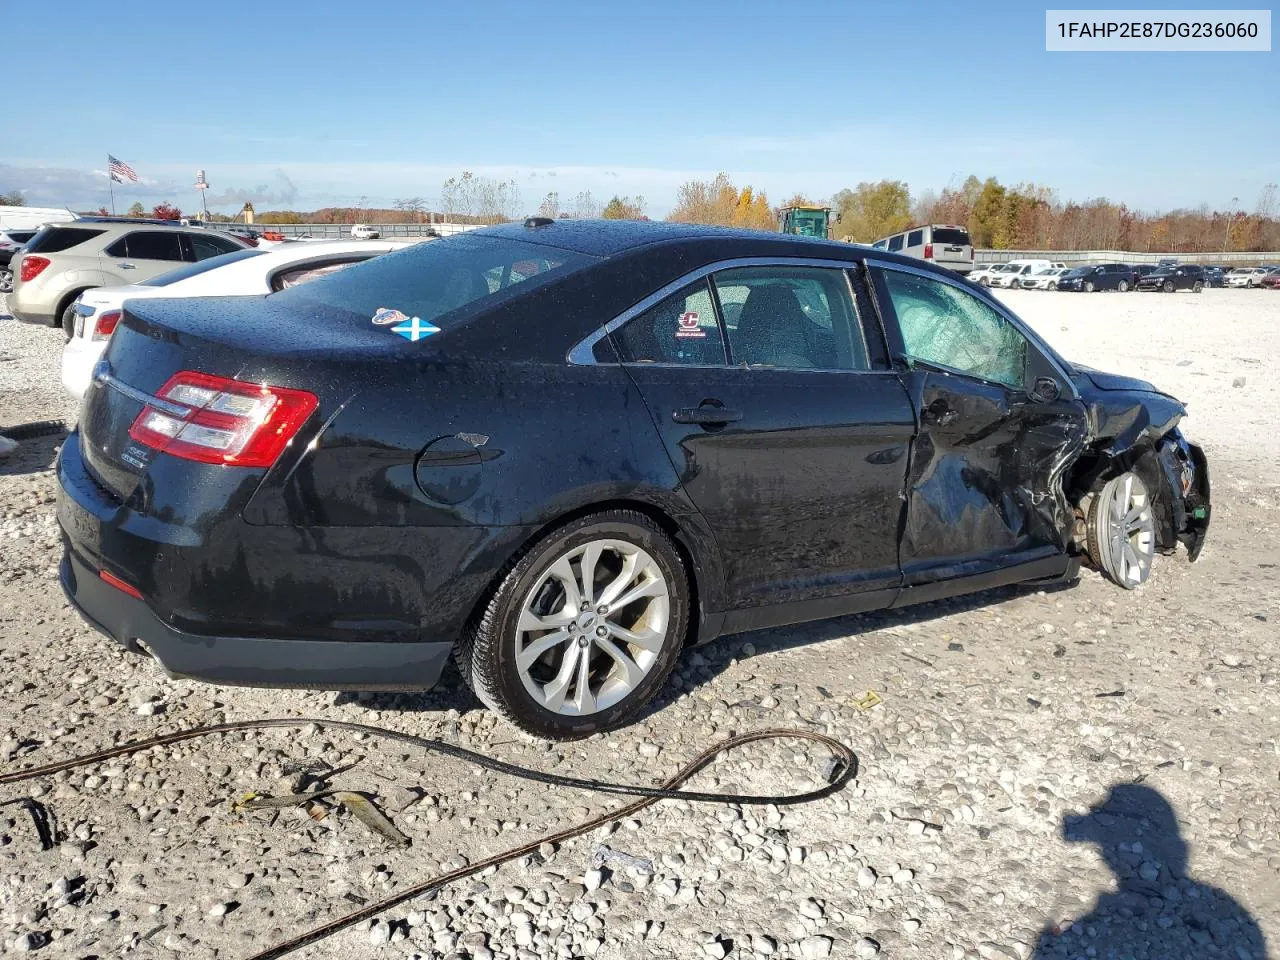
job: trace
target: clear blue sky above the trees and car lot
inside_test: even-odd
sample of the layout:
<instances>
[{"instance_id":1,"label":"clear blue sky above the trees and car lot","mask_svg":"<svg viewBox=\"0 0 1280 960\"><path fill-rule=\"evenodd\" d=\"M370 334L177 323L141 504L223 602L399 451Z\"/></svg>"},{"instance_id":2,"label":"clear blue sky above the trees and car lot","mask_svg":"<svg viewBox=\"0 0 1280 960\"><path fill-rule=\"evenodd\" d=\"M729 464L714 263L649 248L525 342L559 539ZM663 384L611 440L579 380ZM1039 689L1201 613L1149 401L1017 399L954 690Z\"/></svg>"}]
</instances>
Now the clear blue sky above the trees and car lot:
<instances>
[{"instance_id":1,"label":"clear blue sky above the trees and car lot","mask_svg":"<svg viewBox=\"0 0 1280 960\"><path fill-rule=\"evenodd\" d=\"M774 202L975 173L1144 210L1280 182L1280 54L1050 54L1044 6L15 1L0 191L96 206L108 151L146 180L118 206L197 207L204 168L227 210L434 201L462 170L659 216L719 170Z\"/></svg>"}]
</instances>

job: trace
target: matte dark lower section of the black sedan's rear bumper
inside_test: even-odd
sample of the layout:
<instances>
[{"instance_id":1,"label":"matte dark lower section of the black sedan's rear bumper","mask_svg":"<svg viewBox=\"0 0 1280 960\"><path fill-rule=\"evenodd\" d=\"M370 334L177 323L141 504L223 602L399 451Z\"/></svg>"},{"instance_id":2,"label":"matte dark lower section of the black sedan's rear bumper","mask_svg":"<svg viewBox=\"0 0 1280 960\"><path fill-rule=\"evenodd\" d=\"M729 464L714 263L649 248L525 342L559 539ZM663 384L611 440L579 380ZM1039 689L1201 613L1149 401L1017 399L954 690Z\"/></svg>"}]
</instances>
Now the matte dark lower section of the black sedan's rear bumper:
<instances>
[{"instance_id":1,"label":"matte dark lower section of the black sedan's rear bumper","mask_svg":"<svg viewBox=\"0 0 1280 960\"><path fill-rule=\"evenodd\" d=\"M172 677L232 686L320 690L425 690L449 658L448 643L273 640L186 634L143 600L108 585L70 549L59 580L84 620L133 653L150 653Z\"/></svg>"}]
</instances>

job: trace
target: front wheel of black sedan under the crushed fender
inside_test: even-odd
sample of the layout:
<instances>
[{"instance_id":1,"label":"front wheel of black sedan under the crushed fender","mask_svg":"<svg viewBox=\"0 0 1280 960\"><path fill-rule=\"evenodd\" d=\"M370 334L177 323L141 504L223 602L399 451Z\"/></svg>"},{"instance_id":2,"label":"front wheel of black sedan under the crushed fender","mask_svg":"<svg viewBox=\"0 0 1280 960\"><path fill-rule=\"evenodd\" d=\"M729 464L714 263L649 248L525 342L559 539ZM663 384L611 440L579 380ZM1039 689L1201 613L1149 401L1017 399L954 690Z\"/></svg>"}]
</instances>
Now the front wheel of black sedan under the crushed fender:
<instances>
[{"instance_id":1,"label":"front wheel of black sedan under the crushed fender","mask_svg":"<svg viewBox=\"0 0 1280 960\"><path fill-rule=\"evenodd\" d=\"M1147 582L1156 556L1156 517L1137 474L1107 481L1089 504L1085 527L1089 559L1110 581L1125 590Z\"/></svg>"}]
</instances>

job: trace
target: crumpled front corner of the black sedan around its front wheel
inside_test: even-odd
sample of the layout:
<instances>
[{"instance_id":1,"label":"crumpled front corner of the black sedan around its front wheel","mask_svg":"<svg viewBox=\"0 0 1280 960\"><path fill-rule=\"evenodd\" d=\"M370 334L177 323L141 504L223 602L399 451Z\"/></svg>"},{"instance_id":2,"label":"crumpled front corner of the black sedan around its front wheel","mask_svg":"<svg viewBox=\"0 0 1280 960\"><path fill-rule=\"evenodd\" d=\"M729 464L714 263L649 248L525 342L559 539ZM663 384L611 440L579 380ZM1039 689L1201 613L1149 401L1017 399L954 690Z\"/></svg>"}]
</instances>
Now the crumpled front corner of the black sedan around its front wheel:
<instances>
[{"instance_id":1,"label":"crumpled front corner of the black sedan around its front wheel","mask_svg":"<svg viewBox=\"0 0 1280 960\"><path fill-rule=\"evenodd\" d=\"M1210 480L1204 452L1178 429L1187 408L1142 380L1079 366L1075 372L1088 424L1085 448L1066 471L1076 545L1112 579L1111 562L1143 531L1165 554L1181 541L1194 561L1208 532Z\"/></svg>"}]
</instances>

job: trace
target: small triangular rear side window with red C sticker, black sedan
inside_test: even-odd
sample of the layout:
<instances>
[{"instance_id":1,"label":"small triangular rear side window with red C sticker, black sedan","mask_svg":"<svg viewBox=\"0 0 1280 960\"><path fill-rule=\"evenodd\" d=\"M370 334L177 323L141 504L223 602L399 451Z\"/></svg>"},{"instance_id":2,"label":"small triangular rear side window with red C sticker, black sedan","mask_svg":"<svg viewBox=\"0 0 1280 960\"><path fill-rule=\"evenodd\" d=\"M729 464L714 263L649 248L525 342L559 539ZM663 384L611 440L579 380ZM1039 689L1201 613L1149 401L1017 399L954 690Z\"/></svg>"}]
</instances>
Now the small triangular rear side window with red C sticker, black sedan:
<instances>
[{"instance_id":1,"label":"small triangular rear side window with red C sticker, black sedan","mask_svg":"<svg viewBox=\"0 0 1280 960\"><path fill-rule=\"evenodd\" d=\"M707 280L672 293L628 320L613 337L626 364L724 364L724 339Z\"/></svg>"}]
</instances>

